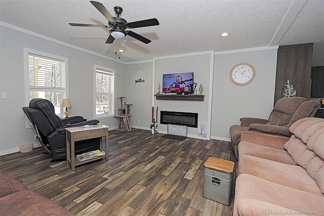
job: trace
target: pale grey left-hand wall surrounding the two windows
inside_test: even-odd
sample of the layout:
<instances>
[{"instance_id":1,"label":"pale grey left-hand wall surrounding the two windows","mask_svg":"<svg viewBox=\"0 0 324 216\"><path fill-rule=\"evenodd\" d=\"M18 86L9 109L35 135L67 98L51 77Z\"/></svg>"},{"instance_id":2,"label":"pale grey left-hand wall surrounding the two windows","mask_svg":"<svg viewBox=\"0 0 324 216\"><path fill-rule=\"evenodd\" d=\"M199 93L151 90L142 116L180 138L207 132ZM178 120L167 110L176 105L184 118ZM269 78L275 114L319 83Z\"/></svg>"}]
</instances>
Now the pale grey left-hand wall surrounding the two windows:
<instances>
[{"instance_id":1,"label":"pale grey left-hand wall surrounding the two windows","mask_svg":"<svg viewBox=\"0 0 324 216\"><path fill-rule=\"evenodd\" d=\"M97 55L57 44L11 28L0 26L1 92L0 154L17 152L23 143L37 143L34 129L27 128L22 107L25 104L23 49L28 48L68 58L68 91L72 107L69 116L80 115L94 119L94 64L116 70L116 84L123 83L125 65ZM116 85L116 95L125 94L124 85ZM118 127L116 118L100 119L111 128Z\"/></svg>"}]
</instances>

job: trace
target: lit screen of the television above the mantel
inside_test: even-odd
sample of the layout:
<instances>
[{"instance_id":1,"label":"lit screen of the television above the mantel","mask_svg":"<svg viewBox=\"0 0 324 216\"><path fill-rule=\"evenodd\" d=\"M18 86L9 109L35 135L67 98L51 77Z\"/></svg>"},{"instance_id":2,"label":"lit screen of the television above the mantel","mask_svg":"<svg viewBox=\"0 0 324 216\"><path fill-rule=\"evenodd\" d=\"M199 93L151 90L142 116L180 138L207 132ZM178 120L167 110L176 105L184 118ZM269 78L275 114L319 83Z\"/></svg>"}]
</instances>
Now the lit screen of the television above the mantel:
<instances>
[{"instance_id":1,"label":"lit screen of the television above the mantel","mask_svg":"<svg viewBox=\"0 0 324 216\"><path fill-rule=\"evenodd\" d=\"M163 92L193 92L193 72L163 75Z\"/></svg>"}]
</instances>

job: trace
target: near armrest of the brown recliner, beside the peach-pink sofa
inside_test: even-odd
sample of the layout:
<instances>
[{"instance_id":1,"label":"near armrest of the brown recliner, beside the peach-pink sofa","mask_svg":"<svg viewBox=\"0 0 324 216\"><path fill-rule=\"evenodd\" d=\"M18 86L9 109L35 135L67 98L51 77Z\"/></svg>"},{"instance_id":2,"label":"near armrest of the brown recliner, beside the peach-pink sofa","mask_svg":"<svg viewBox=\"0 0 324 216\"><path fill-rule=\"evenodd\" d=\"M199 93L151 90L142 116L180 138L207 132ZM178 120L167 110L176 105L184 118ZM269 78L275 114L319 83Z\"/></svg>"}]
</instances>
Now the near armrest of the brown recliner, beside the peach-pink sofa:
<instances>
[{"instance_id":1,"label":"near armrest of the brown recliner, beside the peach-pink sofa","mask_svg":"<svg viewBox=\"0 0 324 216\"><path fill-rule=\"evenodd\" d=\"M288 127L278 125L251 124L249 130L260 131L271 135L291 136L292 133Z\"/></svg>"}]
</instances>

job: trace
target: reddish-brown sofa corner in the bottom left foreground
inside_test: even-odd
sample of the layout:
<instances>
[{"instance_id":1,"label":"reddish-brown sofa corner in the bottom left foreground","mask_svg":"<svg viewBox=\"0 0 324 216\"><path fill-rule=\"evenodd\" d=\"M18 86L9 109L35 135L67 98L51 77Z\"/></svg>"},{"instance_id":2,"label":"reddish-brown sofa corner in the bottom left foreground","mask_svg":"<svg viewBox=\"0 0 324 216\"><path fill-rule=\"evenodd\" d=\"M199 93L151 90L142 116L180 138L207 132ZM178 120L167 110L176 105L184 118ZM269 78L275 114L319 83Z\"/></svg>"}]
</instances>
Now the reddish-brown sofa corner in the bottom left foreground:
<instances>
[{"instance_id":1,"label":"reddish-brown sofa corner in the bottom left foreground","mask_svg":"<svg viewBox=\"0 0 324 216\"><path fill-rule=\"evenodd\" d=\"M0 215L75 215L0 171Z\"/></svg>"}]
</instances>

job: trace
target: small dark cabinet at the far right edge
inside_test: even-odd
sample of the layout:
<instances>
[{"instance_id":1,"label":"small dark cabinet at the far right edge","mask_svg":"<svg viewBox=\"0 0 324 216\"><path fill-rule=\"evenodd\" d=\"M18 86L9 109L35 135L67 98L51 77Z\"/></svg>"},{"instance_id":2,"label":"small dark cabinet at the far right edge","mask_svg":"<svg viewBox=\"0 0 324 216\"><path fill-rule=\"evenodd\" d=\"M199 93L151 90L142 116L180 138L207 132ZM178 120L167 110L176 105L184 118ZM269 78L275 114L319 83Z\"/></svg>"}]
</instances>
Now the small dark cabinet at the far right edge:
<instances>
[{"instance_id":1,"label":"small dark cabinet at the far right edge","mask_svg":"<svg viewBox=\"0 0 324 216\"><path fill-rule=\"evenodd\" d=\"M312 67L310 97L324 97L324 66Z\"/></svg>"}]
</instances>

